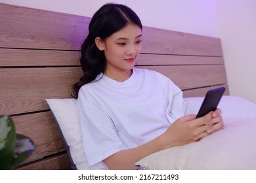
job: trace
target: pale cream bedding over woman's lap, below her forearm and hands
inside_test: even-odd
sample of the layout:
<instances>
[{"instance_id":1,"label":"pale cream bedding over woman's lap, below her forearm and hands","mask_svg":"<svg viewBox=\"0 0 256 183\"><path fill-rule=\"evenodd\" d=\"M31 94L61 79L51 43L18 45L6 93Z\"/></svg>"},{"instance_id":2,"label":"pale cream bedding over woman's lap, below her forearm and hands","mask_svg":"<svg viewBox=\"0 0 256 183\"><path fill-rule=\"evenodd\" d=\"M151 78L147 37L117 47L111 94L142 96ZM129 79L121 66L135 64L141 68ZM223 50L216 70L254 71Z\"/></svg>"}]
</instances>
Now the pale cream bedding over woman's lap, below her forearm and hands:
<instances>
[{"instance_id":1,"label":"pale cream bedding over woman's lap, below her forearm and hands","mask_svg":"<svg viewBox=\"0 0 256 183\"><path fill-rule=\"evenodd\" d=\"M256 118L224 118L224 129L198 142L161 150L137 165L146 169L256 169Z\"/></svg>"}]
</instances>

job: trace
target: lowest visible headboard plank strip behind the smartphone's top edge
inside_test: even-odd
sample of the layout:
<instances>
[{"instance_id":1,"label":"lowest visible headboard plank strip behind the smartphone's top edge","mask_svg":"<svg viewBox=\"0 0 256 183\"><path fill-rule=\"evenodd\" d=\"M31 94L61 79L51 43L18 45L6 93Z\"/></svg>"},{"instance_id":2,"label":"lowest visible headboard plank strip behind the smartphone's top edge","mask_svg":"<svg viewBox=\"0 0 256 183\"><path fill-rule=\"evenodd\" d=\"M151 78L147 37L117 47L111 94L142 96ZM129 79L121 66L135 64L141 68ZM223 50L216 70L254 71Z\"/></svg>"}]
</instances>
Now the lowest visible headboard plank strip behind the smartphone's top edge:
<instances>
[{"instance_id":1,"label":"lowest visible headboard plank strip behind the smartphone's top edge","mask_svg":"<svg viewBox=\"0 0 256 183\"><path fill-rule=\"evenodd\" d=\"M193 90L185 90L183 91L183 97L204 97L209 90L212 90L213 88L219 88L221 86L224 86L226 88L224 95L229 95L228 85L224 84L224 85L210 86L205 88L196 88Z\"/></svg>"}]
</instances>

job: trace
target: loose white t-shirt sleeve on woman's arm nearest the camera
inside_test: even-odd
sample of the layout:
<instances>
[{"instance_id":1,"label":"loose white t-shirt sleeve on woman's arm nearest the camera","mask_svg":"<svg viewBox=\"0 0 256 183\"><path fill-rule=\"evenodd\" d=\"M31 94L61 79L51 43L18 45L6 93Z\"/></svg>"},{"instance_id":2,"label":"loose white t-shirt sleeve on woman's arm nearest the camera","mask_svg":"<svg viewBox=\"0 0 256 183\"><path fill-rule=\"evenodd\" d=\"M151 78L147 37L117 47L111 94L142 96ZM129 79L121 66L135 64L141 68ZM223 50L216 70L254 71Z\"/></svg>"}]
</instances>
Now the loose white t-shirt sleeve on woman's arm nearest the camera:
<instances>
[{"instance_id":1,"label":"loose white t-shirt sleeve on woman's arm nearest the camera","mask_svg":"<svg viewBox=\"0 0 256 183\"><path fill-rule=\"evenodd\" d=\"M119 139L111 118L89 93L79 91L77 99L83 147L89 167L127 147Z\"/></svg>"}]
</instances>

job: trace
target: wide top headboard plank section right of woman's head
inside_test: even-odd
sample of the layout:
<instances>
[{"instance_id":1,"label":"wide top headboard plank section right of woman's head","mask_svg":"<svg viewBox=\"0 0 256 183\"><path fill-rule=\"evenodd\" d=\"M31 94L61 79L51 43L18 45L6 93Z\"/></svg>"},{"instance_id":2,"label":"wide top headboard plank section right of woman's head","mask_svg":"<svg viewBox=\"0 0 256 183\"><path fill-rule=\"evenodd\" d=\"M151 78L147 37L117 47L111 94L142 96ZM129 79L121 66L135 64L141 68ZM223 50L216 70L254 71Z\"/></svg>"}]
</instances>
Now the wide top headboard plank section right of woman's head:
<instances>
[{"instance_id":1,"label":"wide top headboard plank section right of woman's head","mask_svg":"<svg viewBox=\"0 0 256 183\"><path fill-rule=\"evenodd\" d=\"M223 56L221 40L152 27L143 27L143 53Z\"/></svg>"}]
</instances>

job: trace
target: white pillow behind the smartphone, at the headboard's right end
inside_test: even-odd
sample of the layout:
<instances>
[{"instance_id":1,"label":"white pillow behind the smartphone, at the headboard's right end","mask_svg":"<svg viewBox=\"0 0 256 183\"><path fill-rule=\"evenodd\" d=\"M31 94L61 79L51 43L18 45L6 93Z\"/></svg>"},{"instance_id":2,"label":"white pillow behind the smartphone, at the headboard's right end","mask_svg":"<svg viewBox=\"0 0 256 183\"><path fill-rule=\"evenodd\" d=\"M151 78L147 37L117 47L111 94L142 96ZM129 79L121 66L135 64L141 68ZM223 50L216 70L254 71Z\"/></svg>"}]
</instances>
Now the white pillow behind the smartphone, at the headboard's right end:
<instances>
[{"instance_id":1,"label":"white pillow behind the smartphone, at the headboard's right end","mask_svg":"<svg viewBox=\"0 0 256 183\"><path fill-rule=\"evenodd\" d=\"M184 114L197 114L204 97L187 97L183 99ZM256 118L256 104L242 97L224 95L218 105L223 117Z\"/></svg>"}]
</instances>

